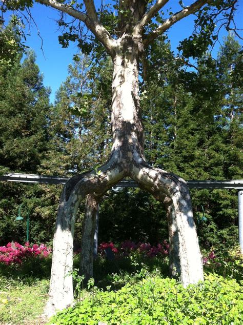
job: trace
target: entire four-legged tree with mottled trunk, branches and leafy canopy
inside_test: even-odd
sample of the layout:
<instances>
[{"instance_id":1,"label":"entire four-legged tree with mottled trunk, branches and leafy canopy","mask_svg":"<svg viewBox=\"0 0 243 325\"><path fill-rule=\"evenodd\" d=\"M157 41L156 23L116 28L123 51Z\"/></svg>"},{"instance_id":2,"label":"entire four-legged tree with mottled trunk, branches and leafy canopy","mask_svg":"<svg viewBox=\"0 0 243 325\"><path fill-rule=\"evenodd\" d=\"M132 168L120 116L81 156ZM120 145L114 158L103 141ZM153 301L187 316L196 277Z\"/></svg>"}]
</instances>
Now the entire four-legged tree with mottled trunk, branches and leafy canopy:
<instances>
[{"instance_id":1,"label":"entire four-legged tree with mottled trunk, branches and leafy canopy","mask_svg":"<svg viewBox=\"0 0 243 325\"><path fill-rule=\"evenodd\" d=\"M181 45L188 57L196 57L212 43L212 32L217 14L224 15L224 24L230 29L236 1L197 0L169 17L161 9L168 0L123 0L115 2L111 11L103 6L97 12L94 1L74 1L71 4L55 0L38 0L64 14L75 18L77 25L59 24L68 28L60 36L63 46L69 40L78 40L85 52L104 52L102 45L113 62L111 125L113 146L105 165L91 172L74 176L64 187L53 244L52 273L49 302L46 312L67 307L73 300L72 246L75 215L79 203L87 196L83 247L91 247L94 230L94 214L102 195L120 179L130 176L141 188L148 190L167 208L170 233L170 265L172 273L179 273L184 286L203 279L198 240L193 220L189 190L185 180L170 172L151 167L144 155L144 130L141 123L139 103L139 63L144 50L153 40L165 33L172 25L197 12L196 26L203 26ZM9 8L24 9L32 1L7 2ZM85 7L85 12L81 11ZM83 23L85 27L80 27ZM79 32L83 31L81 36ZM236 29L234 29L235 32ZM95 37L95 39L94 39ZM98 40L98 43L96 42ZM93 220L93 221L92 221ZM83 269L90 254L83 250ZM69 274L69 275L68 275Z\"/></svg>"}]
</instances>

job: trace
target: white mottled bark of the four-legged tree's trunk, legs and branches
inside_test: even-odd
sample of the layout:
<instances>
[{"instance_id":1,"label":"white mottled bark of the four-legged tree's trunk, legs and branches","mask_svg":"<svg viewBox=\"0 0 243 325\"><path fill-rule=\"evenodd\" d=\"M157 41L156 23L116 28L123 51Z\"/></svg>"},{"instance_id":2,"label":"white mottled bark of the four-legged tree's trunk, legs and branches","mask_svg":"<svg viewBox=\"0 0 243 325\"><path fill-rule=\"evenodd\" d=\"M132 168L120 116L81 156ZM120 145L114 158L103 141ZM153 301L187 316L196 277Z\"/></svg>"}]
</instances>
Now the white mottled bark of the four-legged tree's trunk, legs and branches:
<instances>
[{"instance_id":1,"label":"white mottled bark of the four-legged tree's trunk, legs and branches","mask_svg":"<svg viewBox=\"0 0 243 325\"><path fill-rule=\"evenodd\" d=\"M114 64L111 156L98 173L92 171L75 176L65 185L56 222L46 315L50 316L55 310L70 306L73 301L72 277L68 273L72 270L74 222L80 200L92 193L88 196L89 199L93 198L93 202L91 199L90 207L86 211L89 221L86 222L83 234L83 246L87 250L81 265L81 269L83 268L88 278L92 273L89 263L93 257L93 242L91 244L90 234L93 233L95 224L93 211L97 202L94 198L102 196L126 176L136 180L141 188L147 189L155 197L163 196L165 198L171 243L172 275L180 273L181 281L185 287L189 283L203 280L202 262L187 184L172 173L150 167L145 161L144 130L139 106L138 69L144 46L147 46L151 40L175 22L198 10L207 1L195 1L191 6L172 15L144 39L142 36L144 27L167 1L158 0L147 13L145 12L147 6L145 1L120 1L119 5L124 12L130 13L131 19L124 22L123 18L126 18L126 15L122 14L119 17L118 27L120 27L119 35L121 36L117 40L113 39L98 21L93 0L84 1L87 14L60 4L56 0L39 0L39 2L83 21L105 46Z\"/></svg>"}]
</instances>

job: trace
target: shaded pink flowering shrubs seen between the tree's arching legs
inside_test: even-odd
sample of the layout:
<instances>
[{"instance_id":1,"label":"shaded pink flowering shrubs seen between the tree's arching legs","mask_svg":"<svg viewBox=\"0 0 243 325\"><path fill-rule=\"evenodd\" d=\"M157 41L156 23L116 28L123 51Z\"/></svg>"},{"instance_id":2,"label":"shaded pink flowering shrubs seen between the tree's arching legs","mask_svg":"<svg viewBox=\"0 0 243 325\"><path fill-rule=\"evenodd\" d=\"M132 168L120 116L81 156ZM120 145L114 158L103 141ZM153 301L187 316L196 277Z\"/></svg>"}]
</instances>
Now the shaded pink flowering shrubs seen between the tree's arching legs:
<instances>
[{"instance_id":1,"label":"shaded pink flowering shrubs seen between the tree's arching legs","mask_svg":"<svg viewBox=\"0 0 243 325\"><path fill-rule=\"evenodd\" d=\"M169 243L164 240L163 243L158 243L156 246L151 246L150 243L135 243L131 240L125 240L118 247L115 247L113 242L102 242L99 245L99 252L104 255L105 249L110 248L116 256L130 256L131 254L139 254L145 257L155 257L169 254Z\"/></svg>"}]
</instances>

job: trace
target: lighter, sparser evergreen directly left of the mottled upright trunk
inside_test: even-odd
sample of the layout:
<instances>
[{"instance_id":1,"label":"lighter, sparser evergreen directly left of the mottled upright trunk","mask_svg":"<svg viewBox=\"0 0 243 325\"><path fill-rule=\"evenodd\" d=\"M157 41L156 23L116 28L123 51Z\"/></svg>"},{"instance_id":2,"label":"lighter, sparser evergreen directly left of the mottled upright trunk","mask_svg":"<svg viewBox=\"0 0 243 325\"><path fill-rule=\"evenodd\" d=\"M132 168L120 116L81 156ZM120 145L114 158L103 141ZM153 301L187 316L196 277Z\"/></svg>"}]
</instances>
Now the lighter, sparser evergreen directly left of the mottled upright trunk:
<instances>
[{"instance_id":1,"label":"lighter, sparser evergreen directly left of the mottled upright trunk","mask_svg":"<svg viewBox=\"0 0 243 325\"><path fill-rule=\"evenodd\" d=\"M50 116L50 148L40 171L73 174L105 162L111 143L110 93L105 70L109 61L95 67L87 57L76 56L69 75L56 93ZM102 70L102 75L98 70ZM91 90L90 90L91 89Z\"/></svg>"}]
</instances>

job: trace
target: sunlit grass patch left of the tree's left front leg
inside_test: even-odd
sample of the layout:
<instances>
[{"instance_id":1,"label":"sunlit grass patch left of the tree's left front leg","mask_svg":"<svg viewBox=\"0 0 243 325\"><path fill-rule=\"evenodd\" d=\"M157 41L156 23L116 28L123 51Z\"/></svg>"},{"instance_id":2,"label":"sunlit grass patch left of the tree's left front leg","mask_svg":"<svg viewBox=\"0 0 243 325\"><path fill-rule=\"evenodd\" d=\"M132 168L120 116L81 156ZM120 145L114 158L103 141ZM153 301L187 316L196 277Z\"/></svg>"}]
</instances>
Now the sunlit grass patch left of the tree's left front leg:
<instances>
[{"instance_id":1,"label":"sunlit grass patch left of the tree's left front leg","mask_svg":"<svg viewBox=\"0 0 243 325\"><path fill-rule=\"evenodd\" d=\"M44 324L40 319L48 298L49 280L0 277L0 324Z\"/></svg>"}]
</instances>

